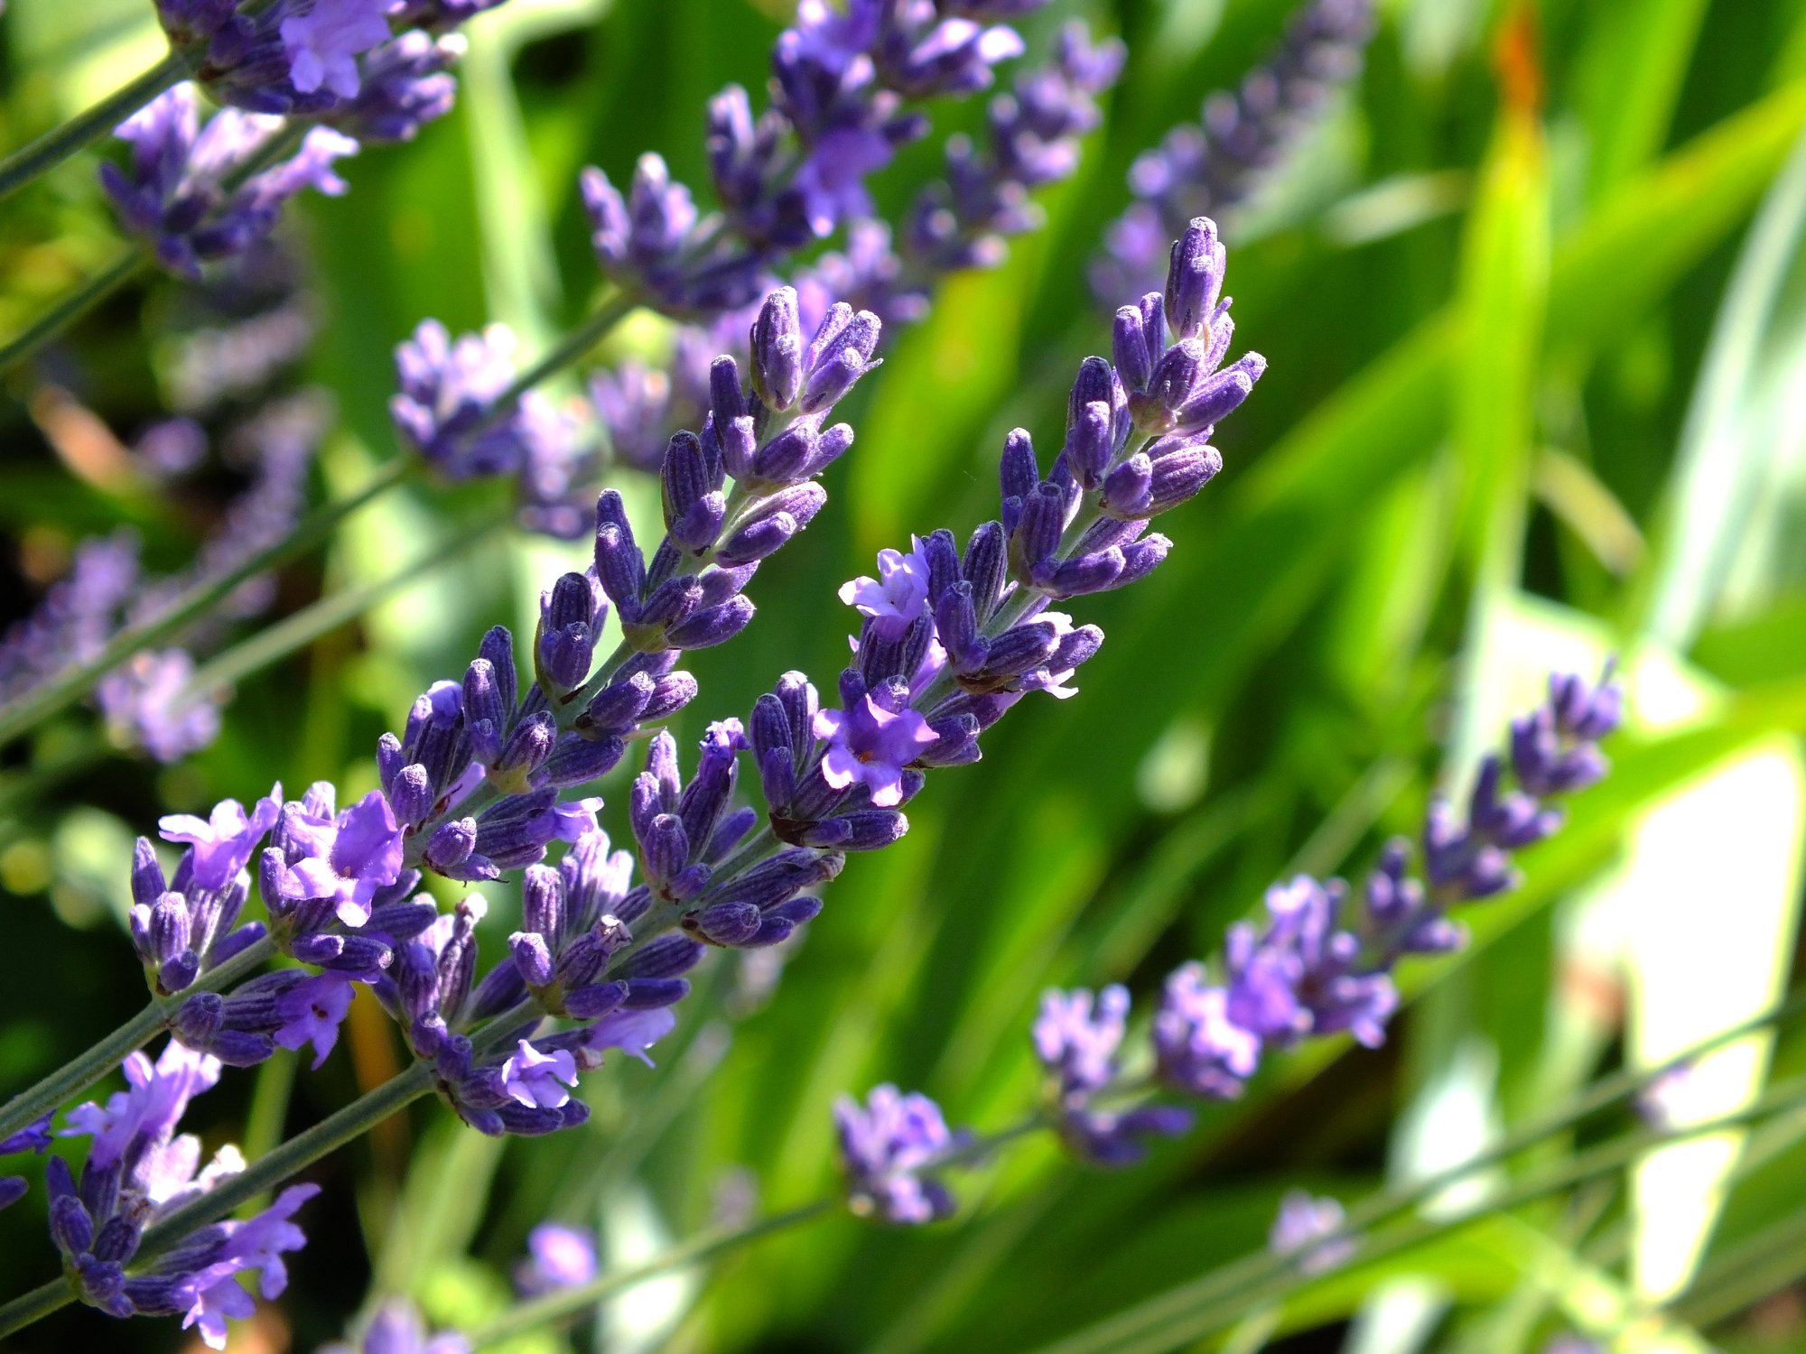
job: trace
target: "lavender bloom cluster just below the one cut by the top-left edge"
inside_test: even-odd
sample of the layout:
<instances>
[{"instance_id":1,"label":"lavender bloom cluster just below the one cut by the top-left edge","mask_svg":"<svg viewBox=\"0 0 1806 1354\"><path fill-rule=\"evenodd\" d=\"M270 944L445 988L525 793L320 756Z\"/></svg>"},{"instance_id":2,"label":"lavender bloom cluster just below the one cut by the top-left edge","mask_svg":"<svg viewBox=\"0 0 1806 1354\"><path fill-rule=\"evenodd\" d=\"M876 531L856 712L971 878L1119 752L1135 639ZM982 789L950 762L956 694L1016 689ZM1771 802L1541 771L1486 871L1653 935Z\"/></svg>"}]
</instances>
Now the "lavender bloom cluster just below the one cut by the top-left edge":
<instances>
[{"instance_id":1,"label":"lavender bloom cluster just below the one cut by the top-left edge","mask_svg":"<svg viewBox=\"0 0 1806 1354\"><path fill-rule=\"evenodd\" d=\"M195 87L177 85L119 125L117 135L132 143L130 168L103 164L101 184L128 233L143 236L172 273L199 278L202 260L240 253L269 235L296 193L345 191L332 161L354 155L358 143L325 126L312 128L291 159L229 188L231 173L278 130L280 119L237 108L200 128Z\"/></svg>"}]
</instances>

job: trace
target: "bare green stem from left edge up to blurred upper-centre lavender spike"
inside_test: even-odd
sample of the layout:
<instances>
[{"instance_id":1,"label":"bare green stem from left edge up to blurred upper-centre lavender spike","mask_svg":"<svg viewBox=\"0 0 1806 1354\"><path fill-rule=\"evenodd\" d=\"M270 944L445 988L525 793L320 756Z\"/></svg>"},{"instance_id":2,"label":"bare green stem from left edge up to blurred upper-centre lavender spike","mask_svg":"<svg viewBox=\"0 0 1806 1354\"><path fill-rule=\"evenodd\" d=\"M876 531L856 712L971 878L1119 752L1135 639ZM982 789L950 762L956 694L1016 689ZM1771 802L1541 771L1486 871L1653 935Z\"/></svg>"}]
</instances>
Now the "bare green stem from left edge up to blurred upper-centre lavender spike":
<instances>
[{"instance_id":1,"label":"bare green stem from left edge up to blurred upper-centre lavender spike","mask_svg":"<svg viewBox=\"0 0 1806 1354\"><path fill-rule=\"evenodd\" d=\"M101 677L139 650L177 635L190 621L204 616L220 601L229 598L247 578L269 572L276 565L282 565L327 540L345 518L370 500L386 493L396 484L401 484L415 473L415 469L417 462L412 457L397 457L396 460L386 462L370 478L370 482L350 498L316 507L302 518L293 533L284 536L275 545L258 551L219 578L195 583L155 616L119 630L107 641L101 652L87 663L40 682L13 704L0 708L0 744L29 733L56 711L85 697L90 690L94 690L94 684Z\"/></svg>"}]
</instances>

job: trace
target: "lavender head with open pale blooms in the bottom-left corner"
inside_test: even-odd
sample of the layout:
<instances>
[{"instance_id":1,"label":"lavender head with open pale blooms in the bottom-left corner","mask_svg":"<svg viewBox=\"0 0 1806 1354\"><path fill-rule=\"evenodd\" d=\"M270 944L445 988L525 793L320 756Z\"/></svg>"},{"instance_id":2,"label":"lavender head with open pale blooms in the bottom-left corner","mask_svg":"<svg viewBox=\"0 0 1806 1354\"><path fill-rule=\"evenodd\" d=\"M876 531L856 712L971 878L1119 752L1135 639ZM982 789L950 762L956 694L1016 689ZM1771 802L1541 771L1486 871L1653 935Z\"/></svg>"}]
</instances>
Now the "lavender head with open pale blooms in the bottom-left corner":
<instances>
[{"instance_id":1,"label":"lavender head with open pale blooms in the bottom-left corner","mask_svg":"<svg viewBox=\"0 0 1806 1354\"><path fill-rule=\"evenodd\" d=\"M63 1136L92 1137L79 1184L61 1157L49 1166L51 1237L81 1302L110 1316L184 1316L211 1349L226 1347L226 1320L253 1311L240 1275L260 1275L265 1298L287 1285L284 1251L305 1237L291 1220L318 1186L296 1184L246 1222L215 1222L164 1249L148 1267L128 1271L144 1231L159 1219L244 1170L233 1146L220 1148L199 1172L200 1145L175 1128L188 1101L208 1090L220 1063L181 1043L152 1067L134 1053L125 1062L126 1090L105 1107L69 1112Z\"/></svg>"}]
</instances>

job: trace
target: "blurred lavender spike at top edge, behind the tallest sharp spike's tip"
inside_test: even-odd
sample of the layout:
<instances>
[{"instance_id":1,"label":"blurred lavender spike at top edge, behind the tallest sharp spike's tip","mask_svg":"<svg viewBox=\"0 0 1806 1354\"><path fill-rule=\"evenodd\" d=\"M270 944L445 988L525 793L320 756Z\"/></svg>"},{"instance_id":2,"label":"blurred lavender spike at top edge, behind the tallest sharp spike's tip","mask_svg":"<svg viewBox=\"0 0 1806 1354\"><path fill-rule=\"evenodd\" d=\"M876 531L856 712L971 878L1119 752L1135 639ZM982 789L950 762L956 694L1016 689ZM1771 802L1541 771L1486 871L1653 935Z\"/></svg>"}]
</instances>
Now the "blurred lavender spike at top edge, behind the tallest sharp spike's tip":
<instances>
[{"instance_id":1,"label":"blurred lavender spike at top edge, behind the tallest sharp spike's tip","mask_svg":"<svg viewBox=\"0 0 1806 1354\"><path fill-rule=\"evenodd\" d=\"M1172 128L1129 170L1134 202L1105 231L1093 291L1111 301L1159 271L1167 240L1197 215L1244 202L1329 96L1360 72L1373 34L1373 0L1309 0L1273 58L1233 94L1205 99L1197 123Z\"/></svg>"}]
</instances>

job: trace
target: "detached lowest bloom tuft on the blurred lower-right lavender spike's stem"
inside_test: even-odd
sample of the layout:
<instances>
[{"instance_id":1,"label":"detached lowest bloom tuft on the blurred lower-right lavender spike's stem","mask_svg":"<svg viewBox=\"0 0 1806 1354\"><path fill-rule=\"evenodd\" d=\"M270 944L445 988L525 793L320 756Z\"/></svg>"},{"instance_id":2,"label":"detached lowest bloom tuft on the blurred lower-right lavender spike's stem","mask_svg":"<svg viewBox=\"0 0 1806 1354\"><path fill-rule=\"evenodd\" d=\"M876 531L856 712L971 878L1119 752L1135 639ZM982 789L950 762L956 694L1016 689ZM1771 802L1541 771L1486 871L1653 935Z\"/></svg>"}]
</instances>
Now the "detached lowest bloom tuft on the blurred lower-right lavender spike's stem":
<instances>
[{"instance_id":1,"label":"detached lowest bloom tuft on the blurred lower-right lavender spike's stem","mask_svg":"<svg viewBox=\"0 0 1806 1354\"><path fill-rule=\"evenodd\" d=\"M854 1213L883 1222L921 1224L952 1217L954 1197L932 1166L964 1143L952 1134L941 1107L923 1094L874 1087L867 1103L843 1096L834 1103L840 1161Z\"/></svg>"}]
</instances>

